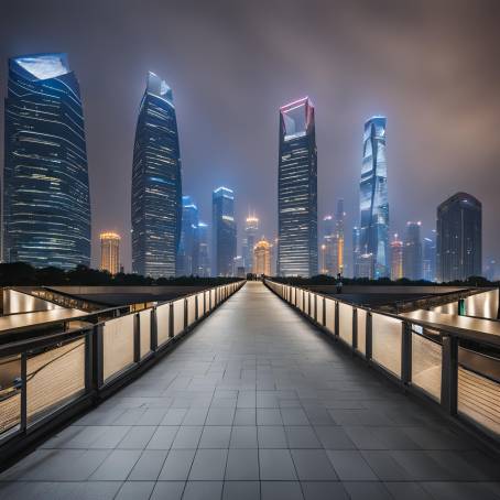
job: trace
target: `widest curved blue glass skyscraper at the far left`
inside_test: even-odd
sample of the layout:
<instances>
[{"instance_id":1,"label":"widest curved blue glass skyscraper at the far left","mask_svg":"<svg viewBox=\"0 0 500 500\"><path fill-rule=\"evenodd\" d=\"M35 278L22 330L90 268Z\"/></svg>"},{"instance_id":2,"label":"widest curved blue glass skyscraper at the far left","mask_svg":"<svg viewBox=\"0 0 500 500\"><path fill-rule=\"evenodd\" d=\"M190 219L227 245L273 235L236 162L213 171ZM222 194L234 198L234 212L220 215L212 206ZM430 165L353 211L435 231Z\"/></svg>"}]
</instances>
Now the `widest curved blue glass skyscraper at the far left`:
<instances>
[{"instance_id":1,"label":"widest curved blue glass skyscraper at the far left","mask_svg":"<svg viewBox=\"0 0 500 500\"><path fill-rule=\"evenodd\" d=\"M3 260L90 265L84 112L66 54L9 59Z\"/></svg>"}]
</instances>

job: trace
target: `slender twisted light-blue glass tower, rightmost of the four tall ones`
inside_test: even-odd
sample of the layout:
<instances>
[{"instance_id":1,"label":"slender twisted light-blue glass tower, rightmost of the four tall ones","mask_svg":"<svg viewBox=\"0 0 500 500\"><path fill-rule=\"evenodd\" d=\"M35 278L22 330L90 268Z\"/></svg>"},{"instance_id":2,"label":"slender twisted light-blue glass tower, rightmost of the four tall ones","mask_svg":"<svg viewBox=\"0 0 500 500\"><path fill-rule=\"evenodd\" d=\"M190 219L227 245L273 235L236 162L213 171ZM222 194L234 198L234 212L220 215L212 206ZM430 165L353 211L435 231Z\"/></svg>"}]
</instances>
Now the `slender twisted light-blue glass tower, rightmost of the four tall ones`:
<instances>
[{"instance_id":1,"label":"slender twisted light-blue glass tower, rightmost of the four tall ones","mask_svg":"<svg viewBox=\"0 0 500 500\"><path fill-rule=\"evenodd\" d=\"M374 279L389 276L389 199L385 117L365 123L360 193L360 247L371 253Z\"/></svg>"}]
</instances>

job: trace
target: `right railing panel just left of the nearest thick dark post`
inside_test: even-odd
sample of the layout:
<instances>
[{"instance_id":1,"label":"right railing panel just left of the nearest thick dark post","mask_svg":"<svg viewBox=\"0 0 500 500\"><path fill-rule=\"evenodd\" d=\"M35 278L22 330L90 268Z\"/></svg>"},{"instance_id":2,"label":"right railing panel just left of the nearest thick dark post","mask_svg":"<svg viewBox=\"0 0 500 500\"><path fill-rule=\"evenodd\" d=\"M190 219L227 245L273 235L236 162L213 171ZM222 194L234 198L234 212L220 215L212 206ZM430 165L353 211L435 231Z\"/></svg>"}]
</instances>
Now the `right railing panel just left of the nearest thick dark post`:
<instances>
[{"instance_id":1,"label":"right railing panel just left of the nearest thick dark post","mask_svg":"<svg viewBox=\"0 0 500 500\"><path fill-rule=\"evenodd\" d=\"M412 331L412 384L441 401L443 347L421 335L421 327L415 327Z\"/></svg>"}]
</instances>

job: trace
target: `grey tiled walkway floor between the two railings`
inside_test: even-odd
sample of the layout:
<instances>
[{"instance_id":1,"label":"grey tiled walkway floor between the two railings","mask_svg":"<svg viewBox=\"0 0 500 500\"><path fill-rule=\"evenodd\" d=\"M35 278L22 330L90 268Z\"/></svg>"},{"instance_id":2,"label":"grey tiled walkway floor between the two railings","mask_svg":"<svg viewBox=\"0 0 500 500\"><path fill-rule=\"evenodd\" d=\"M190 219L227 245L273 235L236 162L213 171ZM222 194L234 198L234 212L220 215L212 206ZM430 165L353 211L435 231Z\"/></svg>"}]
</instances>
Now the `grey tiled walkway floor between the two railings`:
<instances>
[{"instance_id":1,"label":"grey tiled walkway floor between the two railings","mask_svg":"<svg viewBox=\"0 0 500 500\"><path fill-rule=\"evenodd\" d=\"M499 463L260 283L0 480L9 500L500 498Z\"/></svg>"}]
</instances>

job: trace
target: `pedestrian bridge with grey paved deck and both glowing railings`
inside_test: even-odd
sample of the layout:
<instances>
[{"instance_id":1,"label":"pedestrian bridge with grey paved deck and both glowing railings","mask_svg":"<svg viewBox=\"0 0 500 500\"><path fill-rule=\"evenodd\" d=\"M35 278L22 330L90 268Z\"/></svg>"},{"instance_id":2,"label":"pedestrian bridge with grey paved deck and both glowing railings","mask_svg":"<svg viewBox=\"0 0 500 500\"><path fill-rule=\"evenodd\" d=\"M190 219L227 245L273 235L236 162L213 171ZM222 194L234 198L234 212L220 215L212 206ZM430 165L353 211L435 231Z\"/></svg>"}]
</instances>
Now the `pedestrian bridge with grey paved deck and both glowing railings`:
<instances>
[{"instance_id":1,"label":"pedestrian bridge with grey paved deck and both glowing railings","mask_svg":"<svg viewBox=\"0 0 500 500\"><path fill-rule=\"evenodd\" d=\"M0 499L500 498L499 393L461 405L457 331L241 285L3 351Z\"/></svg>"}]
</instances>

